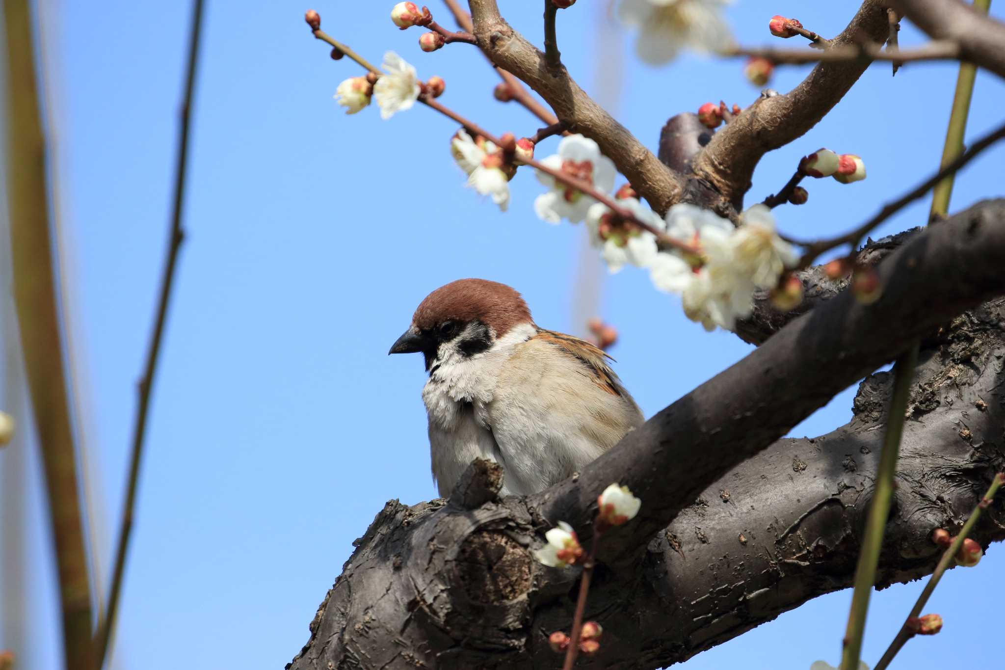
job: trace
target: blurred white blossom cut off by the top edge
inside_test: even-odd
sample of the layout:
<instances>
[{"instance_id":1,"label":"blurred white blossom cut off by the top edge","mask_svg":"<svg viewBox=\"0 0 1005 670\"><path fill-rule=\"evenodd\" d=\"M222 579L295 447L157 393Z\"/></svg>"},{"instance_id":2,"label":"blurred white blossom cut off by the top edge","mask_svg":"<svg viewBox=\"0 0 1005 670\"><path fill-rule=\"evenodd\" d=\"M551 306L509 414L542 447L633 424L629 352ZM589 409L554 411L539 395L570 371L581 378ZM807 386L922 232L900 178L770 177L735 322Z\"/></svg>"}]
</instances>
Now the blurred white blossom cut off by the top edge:
<instances>
[{"instance_id":1,"label":"blurred white blossom cut off by the top edge","mask_svg":"<svg viewBox=\"0 0 1005 670\"><path fill-rule=\"evenodd\" d=\"M720 52L734 45L721 10L730 0L621 0L618 17L639 29L635 50L643 61L660 65L680 49Z\"/></svg>"}]
</instances>

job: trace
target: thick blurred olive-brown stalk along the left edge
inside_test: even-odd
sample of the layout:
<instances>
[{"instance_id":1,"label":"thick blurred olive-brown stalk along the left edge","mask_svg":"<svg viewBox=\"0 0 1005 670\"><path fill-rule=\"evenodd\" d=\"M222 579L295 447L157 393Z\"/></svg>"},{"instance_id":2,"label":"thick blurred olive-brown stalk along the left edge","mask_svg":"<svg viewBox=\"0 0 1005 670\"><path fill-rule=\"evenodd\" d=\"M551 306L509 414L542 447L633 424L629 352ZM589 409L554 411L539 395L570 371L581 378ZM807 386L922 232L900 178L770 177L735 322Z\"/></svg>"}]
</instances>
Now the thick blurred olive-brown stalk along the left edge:
<instances>
[{"instance_id":1,"label":"thick blurred olive-brown stalk along the left edge","mask_svg":"<svg viewBox=\"0 0 1005 670\"><path fill-rule=\"evenodd\" d=\"M45 471L65 666L68 670L90 670L90 587L56 307L46 148L38 111L27 0L4 0L4 26L8 70L6 176L14 302Z\"/></svg>"}]
</instances>

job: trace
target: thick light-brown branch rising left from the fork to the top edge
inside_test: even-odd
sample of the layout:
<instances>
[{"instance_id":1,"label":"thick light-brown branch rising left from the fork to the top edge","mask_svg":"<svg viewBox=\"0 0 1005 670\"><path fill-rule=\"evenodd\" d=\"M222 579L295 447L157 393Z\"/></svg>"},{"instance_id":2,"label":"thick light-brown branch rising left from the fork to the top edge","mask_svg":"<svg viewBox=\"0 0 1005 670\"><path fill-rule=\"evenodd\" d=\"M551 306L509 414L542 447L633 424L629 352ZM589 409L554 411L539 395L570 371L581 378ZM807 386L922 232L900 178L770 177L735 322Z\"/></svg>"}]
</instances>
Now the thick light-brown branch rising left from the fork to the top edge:
<instances>
[{"instance_id":1,"label":"thick light-brown branch rising left from the fork to the top edge","mask_svg":"<svg viewBox=\"0 0 1005 670\"><path fill-rule=\"evenodd\" d=\"M569 131L582 133L614 161L635 191L657 212L680 199L685 180L668 169L621 124L579 87L565 66L549 64L545 54L499 15L495 0L470 0L478 46L498 67L538 91Z\"/></svg>"}]
</instances>

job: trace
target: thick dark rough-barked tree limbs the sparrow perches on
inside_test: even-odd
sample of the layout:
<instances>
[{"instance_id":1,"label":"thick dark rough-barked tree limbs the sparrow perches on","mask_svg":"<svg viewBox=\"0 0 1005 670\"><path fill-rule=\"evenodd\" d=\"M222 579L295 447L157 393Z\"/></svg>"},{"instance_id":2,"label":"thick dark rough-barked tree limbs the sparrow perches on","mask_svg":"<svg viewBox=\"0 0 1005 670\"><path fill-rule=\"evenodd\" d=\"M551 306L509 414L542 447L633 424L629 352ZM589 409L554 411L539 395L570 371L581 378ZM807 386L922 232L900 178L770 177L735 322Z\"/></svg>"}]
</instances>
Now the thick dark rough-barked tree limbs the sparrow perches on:
<instances>
[{"instance_id":1,"label":"thick dark rough-barked tree limbs the sparrow perches on","mask_svg":"<svg viewBox=\"0 0 1005 670\"><path fill-rule=\"evenodd\" d=\"M758 350L581 475L500 500L497 470L478 463L449 501L388 502L287 668L557 667L547 636L568 629L578 572L544 568L530 549L559 519L589 536L612 473L643 511L605 535L587 609L604 627L603 653L582 667L679 662L849 586L888 375L866 378L845 426L779 437L918 337L879 584L930 573L932 529L958 527L1005 465L1005 201L878 244L897 245L878 265L879 301L859 305L831 285L788 323L756 312ZM790 374L799 368L816 375ZM1005 538L1003 514L996 503L982 517L982 545Z\"/></svg>"}]
</instances>

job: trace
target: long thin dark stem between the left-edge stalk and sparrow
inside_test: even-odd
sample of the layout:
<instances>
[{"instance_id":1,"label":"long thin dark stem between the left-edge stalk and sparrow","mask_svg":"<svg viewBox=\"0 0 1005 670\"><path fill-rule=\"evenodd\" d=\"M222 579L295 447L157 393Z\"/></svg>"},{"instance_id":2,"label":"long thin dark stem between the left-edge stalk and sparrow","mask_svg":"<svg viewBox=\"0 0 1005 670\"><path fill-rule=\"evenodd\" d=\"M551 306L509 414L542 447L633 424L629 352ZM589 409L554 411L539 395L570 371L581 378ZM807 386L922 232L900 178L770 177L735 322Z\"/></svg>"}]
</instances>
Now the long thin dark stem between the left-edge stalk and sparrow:
<instances>
[{"instance_id":1,"label":"long thin dark stem between the left-edge stalk and sparrow","mask_svg":"<svg viewBox=\"0 0 1005 670\"><path fill-rule=\"evenodd\" d=\"M185 204L185 184L188 175L189 127L192 121L193 90L195 88L196 65L199 60L199 37L202 32L203 0L195 0L192 8L192 22L189 31L188 65L185 73L185 92L182 97L181 129L178 135L177 158L175 163L174 199L171 211L171 226L168 231L167 258L164 263L164 274L161 276L161 290L158 298L157 316L154 329L147 349L147 362L143 377L139 384L139 403L136 412L136 426L133 433L133 448L130 454L129 483L126 489L126 504L123 507L123 517L119 528L119 541L116 551L115 571L112 577L112 590L109 592L108 613L105 621L97 629L97 667L100 668L108 654L109 640L116 625L116 614L122 593L123 575L126 568L126 556L129 552L130 536L133 532L133 513L136 507L136 492L140 479L140 463L143 458L144 438L147 432L147 417L150 408L151 392L157 374L157 364L161 352L161 342L164 334L164 324L168 317L168 306L171 298L171 288L174 284L175 267L178 262L178 251L184 239L182 228L182 209ZM338 46L338 45L333 45ZM339 47L342 48L342 47ZM346 55L350 55L348 52Z\"/></svg>"}]
</instances>

